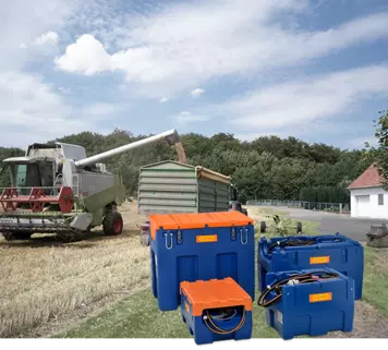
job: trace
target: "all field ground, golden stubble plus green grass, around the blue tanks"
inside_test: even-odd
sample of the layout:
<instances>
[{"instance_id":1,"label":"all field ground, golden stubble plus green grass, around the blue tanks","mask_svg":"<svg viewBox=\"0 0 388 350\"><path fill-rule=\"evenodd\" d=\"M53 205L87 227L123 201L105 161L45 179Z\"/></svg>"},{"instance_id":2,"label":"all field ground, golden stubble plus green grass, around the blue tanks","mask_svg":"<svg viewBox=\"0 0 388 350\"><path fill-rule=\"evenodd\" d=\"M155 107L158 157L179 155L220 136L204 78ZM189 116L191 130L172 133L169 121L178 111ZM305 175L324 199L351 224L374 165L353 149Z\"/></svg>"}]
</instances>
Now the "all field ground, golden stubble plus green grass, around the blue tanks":
<instances>
[{"instance_id":1,"label":"all field ground, golden stubble plus green grass, around the blue tanks","mask_svg":"<svg viewBox=\"0 0 388 350\"><path fill-rule=\"evenodd\" d=\"M256 220L283 214L266 208L248 213ZM151 295L149 251L140 245L136 229L145 217L133 205L124 206L122 214L125 232L118 238L97 233L72 244L44 238L0 241L0 339L191 339L180 311L159 312ZM303 234L317 233L317 222L302 224ZM387 263L388 251L365 249L364 300L372 309L359 303L360 314L375 313L376 322L388 316ZM364 337L368 329L363 319L357 327ZM386 335L388 339L388 328ZM253 339L279 339L256 304Z\"/></svg>"}]
</instances>

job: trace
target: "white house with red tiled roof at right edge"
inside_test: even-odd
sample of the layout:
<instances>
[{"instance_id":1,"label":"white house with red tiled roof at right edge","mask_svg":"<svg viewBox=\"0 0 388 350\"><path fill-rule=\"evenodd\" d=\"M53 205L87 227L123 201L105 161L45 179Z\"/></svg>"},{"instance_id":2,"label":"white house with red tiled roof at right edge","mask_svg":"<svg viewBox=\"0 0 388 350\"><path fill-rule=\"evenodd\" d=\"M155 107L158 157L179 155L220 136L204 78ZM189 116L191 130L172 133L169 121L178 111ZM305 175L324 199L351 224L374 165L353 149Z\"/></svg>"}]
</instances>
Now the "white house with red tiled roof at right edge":
<instances>
[{"instance_id":1,"label":"white house with red tiled roof at right edge","mask_svg":"<svg viewBox=\"0 0 388 350\"><path fill-rule=\"evenodd\" d=\"M388 219L388 192L375 165L349 185L351 217Z\"/></svg>"}]
</instances>

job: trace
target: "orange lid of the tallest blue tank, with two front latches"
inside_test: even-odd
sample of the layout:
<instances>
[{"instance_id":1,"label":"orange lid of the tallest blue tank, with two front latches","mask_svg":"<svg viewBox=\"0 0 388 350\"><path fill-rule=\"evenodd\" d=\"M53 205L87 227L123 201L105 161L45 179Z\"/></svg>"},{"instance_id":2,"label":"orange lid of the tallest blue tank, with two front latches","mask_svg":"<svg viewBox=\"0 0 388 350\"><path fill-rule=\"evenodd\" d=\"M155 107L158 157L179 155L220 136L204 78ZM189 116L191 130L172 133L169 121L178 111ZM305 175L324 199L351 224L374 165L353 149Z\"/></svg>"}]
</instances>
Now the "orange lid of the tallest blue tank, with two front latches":
<instances>
[{"instance_id":1,"label":"orange lid of the tallest blue tank, with two front latches","mask_svg":"<svg viewBox=\"0 0 388 350\"><path fill-rule=\"evenodd\" d=\"M253 219L240 212L216 212L194 214L154 214L149 216L150 236L155 240L158 229L203 229L208 227L232 227L253 224Z\"/></svg>"}]
</instances>

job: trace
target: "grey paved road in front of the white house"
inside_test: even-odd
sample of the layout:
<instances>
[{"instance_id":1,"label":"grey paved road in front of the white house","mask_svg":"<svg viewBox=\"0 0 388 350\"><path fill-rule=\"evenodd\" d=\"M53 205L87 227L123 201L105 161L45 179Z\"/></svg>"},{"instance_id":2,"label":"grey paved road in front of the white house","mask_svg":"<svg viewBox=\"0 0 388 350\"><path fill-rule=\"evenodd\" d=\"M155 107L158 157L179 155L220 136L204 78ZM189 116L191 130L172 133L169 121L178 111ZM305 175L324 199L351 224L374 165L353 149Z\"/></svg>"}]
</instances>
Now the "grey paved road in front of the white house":
<instances>
[{"instance_id":1,"label":"grey paved road in front of the white house","mask_svg":"<svg viewBox=\"0 0 388 350\"><path fill-rule=\"evenodd\" d=\"M289 213L287 216L299 220L311 220L319 222L319 231L323 233L341 233L359 242L366 241L366 233L371 226L388 225L388 220L380 219L355 219L349 215L337 215L324 212L311 212L294 208L279 208Z\"/></svg>"}]
</instances>

